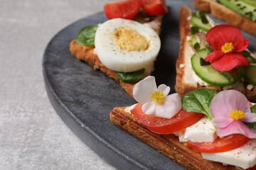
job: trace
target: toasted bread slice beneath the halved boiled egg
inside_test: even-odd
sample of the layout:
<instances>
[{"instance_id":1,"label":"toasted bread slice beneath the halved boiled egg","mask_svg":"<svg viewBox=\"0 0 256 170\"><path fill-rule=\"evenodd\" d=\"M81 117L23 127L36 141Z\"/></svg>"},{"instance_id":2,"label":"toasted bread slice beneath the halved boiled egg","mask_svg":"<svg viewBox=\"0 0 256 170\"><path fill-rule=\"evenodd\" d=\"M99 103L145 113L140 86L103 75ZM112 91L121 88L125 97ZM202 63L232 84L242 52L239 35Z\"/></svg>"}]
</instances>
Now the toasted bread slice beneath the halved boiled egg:
<instances>
[{"instance_id":1,"label":"toasted bread slice beneath the halved boiled egg","mask_svg":"<svg viewBox=\"0 0 256 170\"><path fill-rule=\"evenodd\" d=\"M163 16L152 17L152 16L146 16L144 13L139 13L139 15L134 18L134 20L140 23L143 23L146 26L149 26L150 28L154 29L156 33L159 34L161 31L162 18ZM127 91L127 94L129 94L129 96L132 96L132 89L134 84L124 83L123 81L119 80L119 78L116 75L116 72L105 67L97 57L97 53L95 52L95 46L80 45L77 42L75 42L75 40L72 40L70 42L70 52L78 60L83 60L87 62L94 69L99 69L108 77L117 81L120 84L120 86L122 86L122 88L125 91ZM151 64L151 67L146 68L144 72L144 76L142 78L149 76L153 71L154 71L154 63Z\"/></svg>"}]
</instances>

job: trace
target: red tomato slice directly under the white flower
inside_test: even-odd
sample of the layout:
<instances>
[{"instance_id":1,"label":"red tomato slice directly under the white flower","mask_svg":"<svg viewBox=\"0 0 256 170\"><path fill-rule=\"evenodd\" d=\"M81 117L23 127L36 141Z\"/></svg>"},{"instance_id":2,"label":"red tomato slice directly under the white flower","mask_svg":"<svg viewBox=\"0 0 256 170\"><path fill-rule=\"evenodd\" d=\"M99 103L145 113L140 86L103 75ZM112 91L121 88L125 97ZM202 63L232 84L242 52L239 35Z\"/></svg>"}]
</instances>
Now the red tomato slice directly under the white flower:
<instances>
[{"instance_id":1,"label":"red tomato slice directly under the white flower","mask_svg":"<svg viewBox=\"0 0 256 170\"><path fill-rule=\"evenodd\" d=\"M151 130L151 132L159 134L170 134L178 132L203 118L203 114L200 113L188 113L181 109L173 118L159 118L151 115L146 115L142 111L142 103L138 103L131 111L131 113L137 118L139 123L142 123L145 128Z\"/></svg>"}]
</instances>

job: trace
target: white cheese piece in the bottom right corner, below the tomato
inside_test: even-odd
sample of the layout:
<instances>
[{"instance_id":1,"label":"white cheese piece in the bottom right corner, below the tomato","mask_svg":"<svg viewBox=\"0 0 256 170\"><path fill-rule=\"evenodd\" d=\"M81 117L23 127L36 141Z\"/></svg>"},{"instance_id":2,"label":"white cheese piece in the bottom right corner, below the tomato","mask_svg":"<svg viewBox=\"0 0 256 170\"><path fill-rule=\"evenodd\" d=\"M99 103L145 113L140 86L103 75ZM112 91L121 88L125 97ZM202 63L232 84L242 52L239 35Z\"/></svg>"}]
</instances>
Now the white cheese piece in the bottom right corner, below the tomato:
<instances>
[{"instance_id":1,"label":"white cheese piece in the bottom right corner, below the tomato","mask_svg":"<svg viewBox=\"0 0 256 170\"><path fill-rule=\"evenodd\" d=\"M256 164L256 139L250 140L247 144L228 152L215 154L202 153L204 159L213 162L221 162L248 169Z\"/></svg>"}]
</instances>

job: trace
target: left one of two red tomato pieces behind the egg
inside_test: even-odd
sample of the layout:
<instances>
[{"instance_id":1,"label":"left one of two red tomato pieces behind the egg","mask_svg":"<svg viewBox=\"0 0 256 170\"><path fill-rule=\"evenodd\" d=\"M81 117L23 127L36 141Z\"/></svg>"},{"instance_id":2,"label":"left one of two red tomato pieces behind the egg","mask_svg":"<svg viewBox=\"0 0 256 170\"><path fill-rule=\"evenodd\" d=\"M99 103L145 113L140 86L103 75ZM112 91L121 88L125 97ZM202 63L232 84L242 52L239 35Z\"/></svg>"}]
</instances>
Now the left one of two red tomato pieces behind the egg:
<instances>
[{"instance_id":1,"label":"left one of two red tomato pieces behind the egg","mask_svg":"<svg viewBox=\"0 0 256 170\"><path fill-rule=\"evenodd\" d=\"M141 0L114 1L105 4L104 11L107 18L132 19L142 6Z\"/></svg>"}]
</instances>

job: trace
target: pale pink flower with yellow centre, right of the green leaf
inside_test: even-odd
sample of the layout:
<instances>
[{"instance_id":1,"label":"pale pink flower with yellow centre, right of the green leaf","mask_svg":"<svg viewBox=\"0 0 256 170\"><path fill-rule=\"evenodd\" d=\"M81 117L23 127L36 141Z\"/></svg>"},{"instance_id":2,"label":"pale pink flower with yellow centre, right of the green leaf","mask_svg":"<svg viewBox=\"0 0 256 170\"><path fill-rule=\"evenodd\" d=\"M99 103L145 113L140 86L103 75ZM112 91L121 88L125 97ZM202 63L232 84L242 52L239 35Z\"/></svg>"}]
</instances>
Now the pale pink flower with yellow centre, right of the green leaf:
<instances>
[{"instance_id":1,"label":"pale pink flower with yellow centre, right of the green leaf","mask_svg":"<svg viewBox=\"0 0 256 170\"><path fill-rule=\"evenodd\" d=\"M210 102L210 112L219 137L242 134L256 138L256 131L243 123L256 122L256 114L250 112L249 101L239 91L220 91Z\"/></svg>"}]
</instances>

